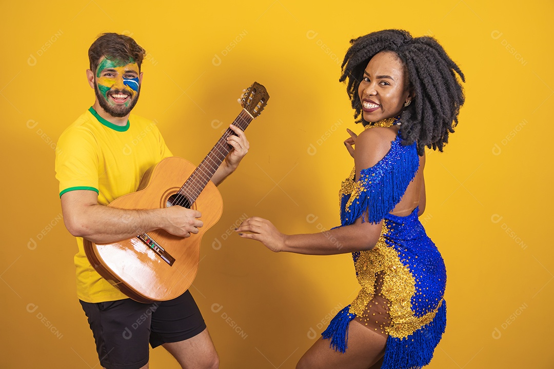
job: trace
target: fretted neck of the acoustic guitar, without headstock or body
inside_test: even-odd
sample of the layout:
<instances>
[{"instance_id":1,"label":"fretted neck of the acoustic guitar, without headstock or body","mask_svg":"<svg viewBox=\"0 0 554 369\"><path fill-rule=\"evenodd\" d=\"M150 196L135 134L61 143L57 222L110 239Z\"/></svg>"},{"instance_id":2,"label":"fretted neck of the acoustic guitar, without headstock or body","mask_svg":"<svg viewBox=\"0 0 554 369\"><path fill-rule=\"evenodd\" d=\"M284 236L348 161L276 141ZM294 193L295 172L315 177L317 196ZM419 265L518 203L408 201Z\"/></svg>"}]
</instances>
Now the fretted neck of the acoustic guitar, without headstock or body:
<instances>
[{"instance_id":1,"label":"fretted neck of the acoustic guitar, without headstock or body","mask_svg":"<svg viewBox=\"0 0 554 369\"><path fill-rule=\"evenodd\" d=\"M243 109L239 113L238 117L233 121L233 126L237 126L245 131L248 124L252 122L252 119L252 115ZM227 143L227 137L233 134L235 133L230 128L227 128L227 131L223 133L223 136L221 136L218 142L216 142L214 147L178 191L179 194L186 196L191 204L196 201L204 187L206 187L209 180L211 180L214 173L216 173L221 163L223 163L225 157L227 157L227 154L229 154L230 150L232 150L233 147Z\"/></svg>"}]
</instances>

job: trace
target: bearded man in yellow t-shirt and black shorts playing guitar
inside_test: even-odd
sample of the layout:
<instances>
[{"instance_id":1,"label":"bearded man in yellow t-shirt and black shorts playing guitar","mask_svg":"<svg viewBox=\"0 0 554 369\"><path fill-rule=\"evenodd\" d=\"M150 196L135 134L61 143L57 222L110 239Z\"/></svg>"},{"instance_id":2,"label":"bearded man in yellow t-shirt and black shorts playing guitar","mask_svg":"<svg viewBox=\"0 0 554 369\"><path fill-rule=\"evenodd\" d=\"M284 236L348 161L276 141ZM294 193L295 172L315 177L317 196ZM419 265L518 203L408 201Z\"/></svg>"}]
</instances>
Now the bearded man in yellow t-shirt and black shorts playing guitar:
<instances>
[{"instance_id":1,"label":"bearded man in yellow t-shirt and black shorts playing guitar","mask_svg":"<svg viewBox=\"0 0 554 369\"><path fill-rule=\"evenodd\" d=\"M131 300L100 277L88 262L83 238L110 243L163 229L189 237L202 227L199 211L181 206L153 210L107 207L134 192L143 173L171 157L155 124L131 115L140 95L145 50L125 35L102 34L89 49L86 76L95 102L61 134L56 157L65 226L77 237L77 293L93 331L100 363L107 369L148 367L148 342L163 346L183 368L217 368L219 359L191 294L153 304ZM248 152L235 126L233 147L213 175L218 185ZM136 139L141 137L141 139ZM141 324L138 324L140 322Z\"/></svg>"}]
</instances>

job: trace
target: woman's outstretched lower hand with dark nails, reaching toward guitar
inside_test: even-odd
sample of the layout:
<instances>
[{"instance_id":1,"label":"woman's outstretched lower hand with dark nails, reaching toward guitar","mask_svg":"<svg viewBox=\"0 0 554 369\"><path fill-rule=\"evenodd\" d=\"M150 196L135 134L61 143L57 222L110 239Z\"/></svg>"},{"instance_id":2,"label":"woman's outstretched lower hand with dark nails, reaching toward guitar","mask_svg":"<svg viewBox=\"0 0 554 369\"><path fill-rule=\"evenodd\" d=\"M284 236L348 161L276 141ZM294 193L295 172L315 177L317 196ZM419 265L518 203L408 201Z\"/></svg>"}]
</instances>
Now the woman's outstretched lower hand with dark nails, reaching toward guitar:
<instances>
[{"instance_id":1,"label":"woman's outstretched lower hand with dark nails, reaching toward guitar","mask_svg":"<svg viewBox=\"0 0 554 369\"><path fill-rule=\"evenodd\" d=\"M253 216L240 224L235 231L240 232L242 238L260 241L265 247L273 252L283 250L287 235L279 232L277 228L267 219ZM243 233L250 232L250 233Z\"/></svg>"}]
</instances>

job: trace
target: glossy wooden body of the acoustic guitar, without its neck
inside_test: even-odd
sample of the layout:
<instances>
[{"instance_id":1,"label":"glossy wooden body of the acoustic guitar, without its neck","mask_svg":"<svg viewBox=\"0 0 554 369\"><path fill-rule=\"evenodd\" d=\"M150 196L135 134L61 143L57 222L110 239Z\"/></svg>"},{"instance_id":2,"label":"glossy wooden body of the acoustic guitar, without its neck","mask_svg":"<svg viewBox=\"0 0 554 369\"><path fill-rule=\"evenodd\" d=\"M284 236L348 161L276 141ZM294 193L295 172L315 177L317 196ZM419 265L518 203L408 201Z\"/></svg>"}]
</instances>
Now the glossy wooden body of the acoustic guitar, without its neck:
<instances>
[{"instance_id":1,"label":"glossy wooden body of the acoustic guitar, without its neck","mask_svg":"<svg viewBox=\"0 0 554 369\"><path fill-rule=\"evenodd\" d=\"M181 189L183 178L188 178L194 169L196 167L193 164L182 158L163 159L148 169L135 193L117 198L109 207L165 208L170 196L175 196ZM192 206L184 205L202 213L204 225L196 235L184 238L164 230L155 230L139 235L142 240L139 236L106 244L84 240L86 256L100 276L138 302L165 301L178 297L196 277L204 232L216 224L223 212L221 195L212 181L207 183ZM121 219L121 222L125 222L125 219Z\"/></svg>"}]
</instances>

